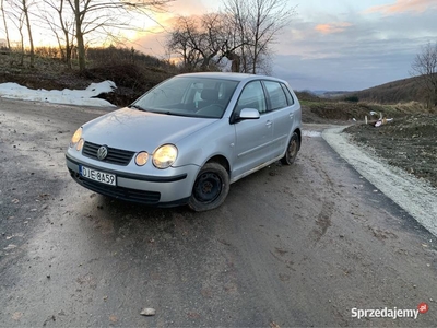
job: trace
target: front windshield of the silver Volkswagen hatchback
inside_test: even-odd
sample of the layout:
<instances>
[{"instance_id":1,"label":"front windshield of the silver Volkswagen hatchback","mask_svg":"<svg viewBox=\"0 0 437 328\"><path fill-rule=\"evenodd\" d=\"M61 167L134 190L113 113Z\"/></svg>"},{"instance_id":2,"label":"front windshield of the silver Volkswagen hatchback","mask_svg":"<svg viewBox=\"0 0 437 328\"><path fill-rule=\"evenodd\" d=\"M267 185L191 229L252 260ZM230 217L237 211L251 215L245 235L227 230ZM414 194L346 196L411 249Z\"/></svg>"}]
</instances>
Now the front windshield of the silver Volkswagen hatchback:
<instances>
[{"instance_id":1,"label":"front windshield of the silver Volkswagen hatchback","mask_svg":"<svg viewBox=\"0 0 437 328\"><path fill-rule=\"evenodd\" d=\"M130 107L167 115L221 118L237 84L222 79L176 77L153 87Z\"/></svg>"}]
</instances>

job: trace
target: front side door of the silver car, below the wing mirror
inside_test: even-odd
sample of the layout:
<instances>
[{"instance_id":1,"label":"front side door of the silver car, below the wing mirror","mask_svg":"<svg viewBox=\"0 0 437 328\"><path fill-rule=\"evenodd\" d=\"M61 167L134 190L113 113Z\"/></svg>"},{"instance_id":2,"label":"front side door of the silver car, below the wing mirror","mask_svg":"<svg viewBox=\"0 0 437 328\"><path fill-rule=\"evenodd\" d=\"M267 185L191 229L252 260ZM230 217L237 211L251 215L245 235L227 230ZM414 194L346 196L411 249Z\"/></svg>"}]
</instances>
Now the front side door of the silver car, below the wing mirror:
<instances>
[{"instance_id":1,"label":"front side door of the silver car, below the wing mirror","mask_svg":"<svg viewBox=\"0 0 437 328\"><path fill-rule=\"evenodd\" d=\"M272 157L273 122L267 112L267 101L261 81L249 82L238 98L234 114L243 108L256 108L259 119L236 121L233 177L244 175Z\"/></svg>"}]
</instances>

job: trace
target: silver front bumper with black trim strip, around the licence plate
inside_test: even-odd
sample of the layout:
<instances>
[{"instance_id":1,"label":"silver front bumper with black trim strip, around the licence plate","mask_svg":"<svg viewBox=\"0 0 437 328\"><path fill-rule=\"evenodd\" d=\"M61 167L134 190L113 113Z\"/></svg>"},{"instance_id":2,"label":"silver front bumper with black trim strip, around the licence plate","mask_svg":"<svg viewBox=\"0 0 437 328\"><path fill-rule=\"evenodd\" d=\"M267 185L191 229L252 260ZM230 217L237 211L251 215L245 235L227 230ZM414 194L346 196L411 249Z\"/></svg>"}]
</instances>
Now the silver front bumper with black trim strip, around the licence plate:
<instances>
[{"instance_id":1,"label":"silver front bumper with black trim strip, around the licence plate","mask_svg":"<svg viewBox=\"0 0 437 328\"><path fill-rule=\"evenodd\" d=\"M117 199L145 203L157 207L174 207L186 204L191 196L192 186L199 167L187 165L184 167L169 167L166 176L140 175L123 171L115 171L105 166L96 166L88 161L74 159L66 154L67 167L71 177L81 186ZM79 165L115 174L117 186L105 185L84 178L80 175Z\"/></svg>"}]
</instances>

